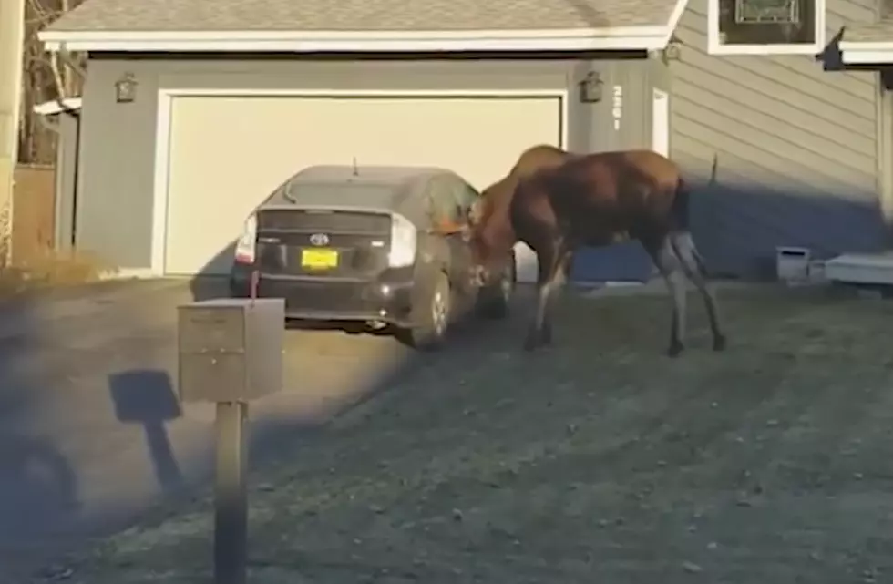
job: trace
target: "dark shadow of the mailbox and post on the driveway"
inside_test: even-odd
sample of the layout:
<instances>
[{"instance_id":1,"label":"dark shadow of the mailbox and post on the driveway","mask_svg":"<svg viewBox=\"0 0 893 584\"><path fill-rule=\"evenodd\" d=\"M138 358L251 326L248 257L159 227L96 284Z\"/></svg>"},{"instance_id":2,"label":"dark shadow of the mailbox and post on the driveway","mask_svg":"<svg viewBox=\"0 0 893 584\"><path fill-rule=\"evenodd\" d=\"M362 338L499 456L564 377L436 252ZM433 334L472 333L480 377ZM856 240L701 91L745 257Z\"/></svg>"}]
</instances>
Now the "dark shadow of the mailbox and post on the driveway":
<instances>
[{"instance_id":1,"label":"dark shadow of the mailbox and post on the driveway","mask_svg":"<svg viewBox=\"0 0 893 584\"><path fill-rule=\"evenodd\" d=\"M182 415L168 372L146 369L111 374L108 386L118 420L143 426L161 489L169 492L182 487L183 475L165 427Z\"/></svg>"}]
</instances>

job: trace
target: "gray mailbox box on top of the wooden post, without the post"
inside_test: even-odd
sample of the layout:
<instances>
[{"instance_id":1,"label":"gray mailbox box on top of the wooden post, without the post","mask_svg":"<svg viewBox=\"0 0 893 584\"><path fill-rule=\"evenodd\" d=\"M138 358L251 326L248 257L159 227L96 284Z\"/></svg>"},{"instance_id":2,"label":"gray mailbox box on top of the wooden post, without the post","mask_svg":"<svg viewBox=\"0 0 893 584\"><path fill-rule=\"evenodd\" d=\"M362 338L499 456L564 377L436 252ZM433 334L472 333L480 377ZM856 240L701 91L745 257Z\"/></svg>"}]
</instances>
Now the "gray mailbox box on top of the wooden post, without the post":
<instances>
[{"instance_id":1,"label":"gray mailbox box on top of the wooden post, without the post","mask_svg":"<svg viewBox=\"0 0 893 584\"><path fill-rule=\"evenodd\" d=\"M247 402L282 389L282 298L185 304L178 328L180 401Z\"/></svg>"}]
</instances>

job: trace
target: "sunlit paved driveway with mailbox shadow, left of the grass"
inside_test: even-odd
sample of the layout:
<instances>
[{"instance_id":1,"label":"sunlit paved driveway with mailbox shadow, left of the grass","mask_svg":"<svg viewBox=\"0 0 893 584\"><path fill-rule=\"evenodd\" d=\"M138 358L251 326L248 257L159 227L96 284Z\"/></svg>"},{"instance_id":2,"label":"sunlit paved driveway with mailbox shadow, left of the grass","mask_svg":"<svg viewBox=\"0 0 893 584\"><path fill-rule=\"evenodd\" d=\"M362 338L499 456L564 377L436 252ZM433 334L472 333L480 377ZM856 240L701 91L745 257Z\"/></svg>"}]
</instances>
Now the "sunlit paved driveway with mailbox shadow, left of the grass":
<instances>
[{"instance_id":1,"label":"sunlit paved driveway with mailbox shadow, left of the grass","mask_svg":"<svg viewBox=\"0 0 893 584\"><path fill-rule=\"evenodd\" d=\"M186 282L128 282L0 309L0 581L114 530L212 468L212 406L180 412ZM252 410L256 459L374 392L412 353L387 337L287 335L287 391Z\"/></svg>"}]
</instances>

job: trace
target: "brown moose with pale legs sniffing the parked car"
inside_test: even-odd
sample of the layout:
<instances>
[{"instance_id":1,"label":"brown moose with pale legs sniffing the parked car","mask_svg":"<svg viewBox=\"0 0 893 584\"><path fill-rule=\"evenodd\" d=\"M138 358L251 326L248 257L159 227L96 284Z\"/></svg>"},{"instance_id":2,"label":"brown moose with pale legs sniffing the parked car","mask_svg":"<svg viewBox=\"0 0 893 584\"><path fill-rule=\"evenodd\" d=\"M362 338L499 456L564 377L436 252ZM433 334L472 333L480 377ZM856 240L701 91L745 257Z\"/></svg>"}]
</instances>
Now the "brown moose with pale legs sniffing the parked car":
<instances>
[{"instance_id":1,"label":"brown moose with pale legs sniffing the parked car","mask_svg":"<svg viewBox=\"0 0 893 584\"><path fill-rule=\"evenodd\" d=\"M672 295L667 354L676 357L684 348L683 275L703 297L713 350L724 350L717 303L689 231L689 190L672 160L644 149L576 154L539 145L525 150L508 175L481 194L466 233L472 281L480 286L501 273L518 241L537 254L536 311L525 349L552 342L554 292L567 279L574 251L638 240Z\"/></svg>"}]
</instances>

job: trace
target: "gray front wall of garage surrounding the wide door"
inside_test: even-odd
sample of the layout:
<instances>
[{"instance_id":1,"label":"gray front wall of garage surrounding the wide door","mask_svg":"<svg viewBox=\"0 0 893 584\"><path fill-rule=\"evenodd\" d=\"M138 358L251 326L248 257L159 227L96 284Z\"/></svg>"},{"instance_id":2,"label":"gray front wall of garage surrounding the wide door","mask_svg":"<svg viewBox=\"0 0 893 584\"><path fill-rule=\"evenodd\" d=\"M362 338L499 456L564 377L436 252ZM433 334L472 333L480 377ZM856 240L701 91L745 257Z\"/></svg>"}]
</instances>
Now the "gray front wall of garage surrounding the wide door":
<instances>
[{"instance_id":1,"label":"gray front wall of garage surrounding the wide door","mask_svg":"<svg viewBox=\"0 0 893 584\"><path fill-rule=\"evenodd\" d=\"M609 60L392 60L295 61L91 58L81 118L77 179L77 247L122 269L149 269L158 90L162 87L269 87L336 89L549 89L570 88L570 149L609 149L640 140L643 106L625 91L629 116L619 130L610 116L612 83L647 75L647 61ZM590 70L605 80L604 99L583 104L577 83ZM118 104L115 82L131 72L135 101ZM631 120L626 123L625 120ZM221 120L226 123L226 120ZM507 169L508 171L508 169Z\"/></svg>"}]
</instances>

